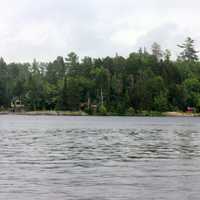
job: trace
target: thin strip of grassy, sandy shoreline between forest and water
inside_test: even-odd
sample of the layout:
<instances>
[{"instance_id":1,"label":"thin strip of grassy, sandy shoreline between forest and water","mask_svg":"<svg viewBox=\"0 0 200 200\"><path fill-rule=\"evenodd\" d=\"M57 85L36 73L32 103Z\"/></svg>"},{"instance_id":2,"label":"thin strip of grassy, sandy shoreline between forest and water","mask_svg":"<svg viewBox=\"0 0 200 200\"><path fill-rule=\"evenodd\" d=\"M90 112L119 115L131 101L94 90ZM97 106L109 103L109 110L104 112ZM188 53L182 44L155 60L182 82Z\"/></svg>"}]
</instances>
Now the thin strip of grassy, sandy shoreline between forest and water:
<instances>
[{"instance_id":1,"label":"thin strip of grassy, sandy shoreline between forest and water","mask_svg":"<svg viewBox=\"0 0 200 200\"><path fill-rule=\"evenodd\" d=\"M89 115L83 111L23 111L10 112L0 111L0 115L30 115L30 116L102 116L98 114ZM188 112L141 112L133 115L118 115L108 113L105 116L128 116L128 117L200 117L200 113Z\"/></svg>"}]
</instances>

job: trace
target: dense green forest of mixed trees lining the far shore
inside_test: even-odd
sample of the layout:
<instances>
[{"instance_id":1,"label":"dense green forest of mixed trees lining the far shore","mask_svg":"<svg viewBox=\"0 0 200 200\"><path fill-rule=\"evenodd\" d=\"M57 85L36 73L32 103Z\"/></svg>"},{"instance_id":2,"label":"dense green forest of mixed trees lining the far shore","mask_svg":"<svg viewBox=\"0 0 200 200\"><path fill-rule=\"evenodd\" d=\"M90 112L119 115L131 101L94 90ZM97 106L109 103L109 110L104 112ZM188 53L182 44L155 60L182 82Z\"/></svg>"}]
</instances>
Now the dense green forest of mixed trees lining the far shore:
<instances>
[{"instance_id":1,"label":"dense green forest of mixed trees lining the far shore","mask_svg":"<svg viewBox=\"0 0 200 200\"><path fill-rule=\"evenodd\" d=\"M142 111L200 111L200 62L194 41L169 50L154 43L127 58L84 57L75 53L53 62L9 63L0 59L0 106L8 110L18 100L26 110L83 110L89 114L129 114Z\"/></svg>"}]
</instances>

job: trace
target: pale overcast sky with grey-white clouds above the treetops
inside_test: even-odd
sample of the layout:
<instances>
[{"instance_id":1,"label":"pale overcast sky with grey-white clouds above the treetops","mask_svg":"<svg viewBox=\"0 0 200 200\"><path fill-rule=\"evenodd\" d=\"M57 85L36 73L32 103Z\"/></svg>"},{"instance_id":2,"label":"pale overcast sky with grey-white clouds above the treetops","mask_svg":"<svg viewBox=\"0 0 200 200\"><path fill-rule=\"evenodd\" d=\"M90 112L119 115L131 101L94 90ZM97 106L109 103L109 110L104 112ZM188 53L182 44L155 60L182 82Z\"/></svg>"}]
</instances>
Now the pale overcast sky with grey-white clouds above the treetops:
<instances>
[{"instance_id":1,"label":"pale overcast sky with grey-white clouds above the treetops","mask_svg":"<svg viewBox=\"0 0 200 200\"><path fill-rule=\"evenodd\" d=\"M0 56L7 62L66 56L127 56L185 37L200 49L199 0L0 0Z\"/></svg>"}]
</instances>

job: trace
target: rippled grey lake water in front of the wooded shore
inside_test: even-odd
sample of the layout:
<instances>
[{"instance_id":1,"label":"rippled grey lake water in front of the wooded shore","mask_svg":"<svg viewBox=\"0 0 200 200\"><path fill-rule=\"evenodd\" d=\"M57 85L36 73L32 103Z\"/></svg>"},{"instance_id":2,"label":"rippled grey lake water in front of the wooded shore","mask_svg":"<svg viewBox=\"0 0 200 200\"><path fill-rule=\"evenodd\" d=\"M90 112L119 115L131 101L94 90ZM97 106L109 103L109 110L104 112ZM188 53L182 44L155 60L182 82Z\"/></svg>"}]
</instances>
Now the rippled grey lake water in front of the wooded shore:
<instances>
[{"instance_id":1,"label":"rippled grey lake water in front of the wooded shore","mask_svg":"<svg viewBox=\"0 0 200 200\"><path fill-rule=\"evenodd\" d=\"M200 198L200 118L0 116L0 199Z\"/></svg>"}]
</instances>

